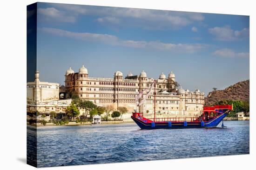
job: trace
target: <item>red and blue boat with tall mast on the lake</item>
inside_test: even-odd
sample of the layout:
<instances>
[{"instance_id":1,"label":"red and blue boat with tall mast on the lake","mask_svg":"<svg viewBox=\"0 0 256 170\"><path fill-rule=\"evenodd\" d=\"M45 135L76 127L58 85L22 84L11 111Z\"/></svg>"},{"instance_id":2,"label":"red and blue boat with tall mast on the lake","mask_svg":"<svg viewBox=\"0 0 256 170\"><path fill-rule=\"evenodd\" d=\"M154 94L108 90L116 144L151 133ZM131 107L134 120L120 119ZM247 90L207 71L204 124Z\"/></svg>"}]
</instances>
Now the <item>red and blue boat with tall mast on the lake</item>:
<instances>
[{"instance_id":1,"label":"red and blue boat with tall mast on the lake","mask_svg":"<svg viewBox=\"0 0 256 170\"><path fill-rule=\"evenodd\" d=\"M155 87L155 82L149 89L149 92L152 90L153 86ZM142 94L143 92L138 94L135 101L138 101ZM144 101L148 97L148 94L143 99ZM155 94L156 93L154 93L154 95ZM138 107L143 104L143 100L137 105ZM220 122L222 122L222 128L224 128L226 126L223 125L223 119L231 112L232 109L233 105L215 105L213 107L203 107L203 110L195 117L157 118L154 107L154 118L145 118L143 113L136 111L133 112L131 118L141 129L212 128L218 126Z\"/></svg>"}]
</instances>

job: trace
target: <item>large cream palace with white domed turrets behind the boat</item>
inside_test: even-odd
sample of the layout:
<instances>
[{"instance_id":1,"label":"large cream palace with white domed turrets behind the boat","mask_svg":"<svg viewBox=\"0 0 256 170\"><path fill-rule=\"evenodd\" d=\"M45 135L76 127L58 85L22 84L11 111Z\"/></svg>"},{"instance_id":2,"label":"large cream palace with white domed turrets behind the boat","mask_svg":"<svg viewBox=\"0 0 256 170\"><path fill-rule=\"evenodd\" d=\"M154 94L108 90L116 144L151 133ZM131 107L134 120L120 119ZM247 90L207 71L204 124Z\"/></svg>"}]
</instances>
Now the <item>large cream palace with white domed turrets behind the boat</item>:
<instances>
[{"instance_id":1,"label":"large cream palace with white domed turrets behind the boat","mask_svg":"<svg viewBox=\"0 0 256 170\"><path fill-rule=\"evenodd\" d=\"M127 107L129 112L136 109L135 96L150 87L154 81L156 81L156 113L193 116L202 111L204 93L199 89L190 92L188 89L179 88L171 93L168 92L168 88L172 87L172 83L175 82L173 71L168 77L162 73L157 80L149 78L144 70L140 75L133 75L129 72L127 76L123 76L121 71L116 71L113 78L89 77L84 65L76 73L70 67L65 74L67 93L78 94L81 99L93 101L98 106L113 105L115 109ZM145 90L142 98L147 93ZM138 111L154 112L153 93L154 90Z\"/></svg>"}]
</instances>

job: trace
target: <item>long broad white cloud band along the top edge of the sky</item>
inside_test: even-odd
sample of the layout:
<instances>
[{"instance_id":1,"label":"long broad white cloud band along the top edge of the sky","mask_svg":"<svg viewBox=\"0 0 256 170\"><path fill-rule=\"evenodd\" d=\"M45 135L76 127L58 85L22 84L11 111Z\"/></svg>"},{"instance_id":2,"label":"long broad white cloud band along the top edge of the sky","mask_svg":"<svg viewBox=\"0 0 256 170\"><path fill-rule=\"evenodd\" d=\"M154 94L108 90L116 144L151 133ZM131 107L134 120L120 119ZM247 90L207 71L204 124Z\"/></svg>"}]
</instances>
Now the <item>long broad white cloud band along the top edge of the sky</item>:
<instances>
[{"instance_id":1,"label":"long broad white cloud band along the top edge of the sky","mask_svg":"<svg viewBox=\"0 0 256 170\"><path fill-rule=\"evenodd\" d=\"M117 20L125 20L126 22L122 24L136 25L144 29L176 29L204 19L201 13L71 4L51 5L65 10L71 16L98 16L97 21L101 24L103 23L102 21L117 24ZM130 20L128 21L128 19Z\"/></svg>"}]
</instances>

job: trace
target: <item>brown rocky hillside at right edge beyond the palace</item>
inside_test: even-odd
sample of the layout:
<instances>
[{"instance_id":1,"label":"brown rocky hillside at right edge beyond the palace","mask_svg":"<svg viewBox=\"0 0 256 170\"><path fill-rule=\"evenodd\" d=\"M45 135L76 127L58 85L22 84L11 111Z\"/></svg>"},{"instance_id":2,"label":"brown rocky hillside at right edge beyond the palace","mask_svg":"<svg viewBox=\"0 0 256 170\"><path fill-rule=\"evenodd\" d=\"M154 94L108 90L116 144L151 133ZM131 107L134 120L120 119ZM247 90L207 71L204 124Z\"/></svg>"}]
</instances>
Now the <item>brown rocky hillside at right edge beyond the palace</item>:
<instances>
[{"instance_id":1,"label":"brown rocky hillside at right edge beyond the palace","mask_svg":"<svg viewBox=\"0 0 256 170\"><path fill-rule=\"evenodd\" d=\"M249 80L238 82L224 90L212 91L205 97L205 105L212 106L217 101L248 101L249 102Z\"/></svg>"}]
</instances>

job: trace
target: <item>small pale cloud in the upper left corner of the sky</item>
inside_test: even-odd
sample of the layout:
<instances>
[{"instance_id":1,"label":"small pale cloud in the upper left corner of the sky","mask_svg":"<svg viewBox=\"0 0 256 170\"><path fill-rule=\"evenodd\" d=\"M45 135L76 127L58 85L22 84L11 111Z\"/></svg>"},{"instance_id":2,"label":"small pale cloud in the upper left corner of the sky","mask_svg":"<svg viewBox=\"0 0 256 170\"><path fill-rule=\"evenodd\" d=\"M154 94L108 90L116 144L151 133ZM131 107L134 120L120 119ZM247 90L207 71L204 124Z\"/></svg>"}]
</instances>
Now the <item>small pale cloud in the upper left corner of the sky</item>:
<instances>
[{"instance_id":1,"label":"small pale cloud in the upper left corner of the sky","mask_svg":"<svg viewBox=\"0 0 256 170\"><path fill-rule=\"evenodd\" d=\"M67 22L67 23L75 22L74 16L61 12L54 7L38 8L37 11L40 14L38 15L39 20L44 20L47 22Z\"/></svg>"}]
</instances>

